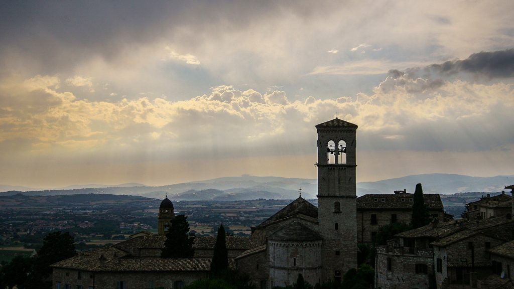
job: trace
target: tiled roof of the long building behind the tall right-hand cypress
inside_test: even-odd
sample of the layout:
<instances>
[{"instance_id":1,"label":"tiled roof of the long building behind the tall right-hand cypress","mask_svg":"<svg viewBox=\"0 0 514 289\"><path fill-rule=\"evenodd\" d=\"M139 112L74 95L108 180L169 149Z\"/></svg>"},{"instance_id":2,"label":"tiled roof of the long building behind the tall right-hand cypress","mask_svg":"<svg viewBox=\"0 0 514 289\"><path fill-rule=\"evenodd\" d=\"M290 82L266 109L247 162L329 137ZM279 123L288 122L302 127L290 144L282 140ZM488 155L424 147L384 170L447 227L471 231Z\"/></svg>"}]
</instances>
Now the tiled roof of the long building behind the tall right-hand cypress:
<instances>
[{"instance_id":1,"label":"tiled roof of the long building behind the tall right-hand cypress","mask_svg":"<svg viewBox=\"0 0 514 289\"><path fill-rule=\"evenodd\" d=\"M423 200L429 209L444 210L439 194L423 194ZM357 198L357 209L412 209L412 204L414 194L367 194Z\"/></svg>"}]
</instances>

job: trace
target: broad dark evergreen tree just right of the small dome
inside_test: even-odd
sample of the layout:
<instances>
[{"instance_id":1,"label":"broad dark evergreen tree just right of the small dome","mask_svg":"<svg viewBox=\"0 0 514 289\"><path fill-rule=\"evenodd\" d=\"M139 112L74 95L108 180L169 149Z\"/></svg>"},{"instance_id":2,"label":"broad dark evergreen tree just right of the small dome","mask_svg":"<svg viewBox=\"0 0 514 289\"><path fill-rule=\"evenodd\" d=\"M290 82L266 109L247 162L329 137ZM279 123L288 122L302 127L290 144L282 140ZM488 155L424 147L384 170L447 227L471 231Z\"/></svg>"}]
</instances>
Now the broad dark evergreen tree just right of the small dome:
<instances>
[{"instance_id":1,"label":"broad dark evergreen tree just right of the small dome","mask_svg":"<svg viewBox=\"0 0 514 289\"><path fill-rule=\"evenodd\" d=\"M193 258L193 239L188 238L189 223L185 215L177 215L171 220L166 234L161 258Z\"/></svg>"}]
</instances>

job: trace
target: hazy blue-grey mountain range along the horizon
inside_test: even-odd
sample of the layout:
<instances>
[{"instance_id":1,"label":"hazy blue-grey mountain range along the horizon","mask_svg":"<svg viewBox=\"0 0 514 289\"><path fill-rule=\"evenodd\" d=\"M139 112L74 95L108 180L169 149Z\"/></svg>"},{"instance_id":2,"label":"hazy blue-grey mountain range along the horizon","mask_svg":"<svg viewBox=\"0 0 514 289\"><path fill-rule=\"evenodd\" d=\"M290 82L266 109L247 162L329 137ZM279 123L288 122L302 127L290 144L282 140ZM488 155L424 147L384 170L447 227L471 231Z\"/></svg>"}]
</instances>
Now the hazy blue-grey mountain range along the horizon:
<instances>
[{"instance_id":1,"label":"hazy blue-grey mountain range along the horizon","mask_svg":"<svg viewBox=\"0 0 514 289\"><path fill-rule=\"evenodd\" d=\"M423 189L426 193L498 192L504 190L505 186L514 184L514 175L494 177L472 177L457 174L410 175L379 180L378 182L357 183L357 195L392 193L395 190L403 189L407 189L407 192L414 192L417 183L423 184ZM174 201L240 201L254 200L256 198L293 199L298 197L299 188L302 188L302 196L304 198L315 198L318 190L317 179L251 175L221 177L158 187L130 183L118 186L90 185L90 188L70 186L56 190L19 189L13 186L0 186L0 189L4 187L8 191L0 193L0 195L13 195L21 192L24 195L102 193L139 195L151 198L163 198L165 195L168 195Z\"/></svg>"}]
</instances>

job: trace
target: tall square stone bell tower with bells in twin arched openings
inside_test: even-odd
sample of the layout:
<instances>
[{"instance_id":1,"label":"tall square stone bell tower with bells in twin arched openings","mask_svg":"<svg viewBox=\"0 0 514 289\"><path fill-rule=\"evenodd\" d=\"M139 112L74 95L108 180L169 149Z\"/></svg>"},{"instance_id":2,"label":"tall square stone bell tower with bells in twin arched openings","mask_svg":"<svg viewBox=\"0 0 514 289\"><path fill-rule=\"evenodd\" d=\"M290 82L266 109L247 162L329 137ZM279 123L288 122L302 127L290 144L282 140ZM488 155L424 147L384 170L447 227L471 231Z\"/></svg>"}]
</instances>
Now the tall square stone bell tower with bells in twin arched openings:
<instances>
[{"instance_id":1,"label":"tall square stone bell tower with bells in twin arched openings","mask_svg":"<svg viewBox=\"0 0 514 289\"><path fill-rule=\"evenodd\" d=\"M325 280L341 282L357 268L357 125L338 119L318 130L318 222L323 243Z\"/></svg>"}]
</instances>

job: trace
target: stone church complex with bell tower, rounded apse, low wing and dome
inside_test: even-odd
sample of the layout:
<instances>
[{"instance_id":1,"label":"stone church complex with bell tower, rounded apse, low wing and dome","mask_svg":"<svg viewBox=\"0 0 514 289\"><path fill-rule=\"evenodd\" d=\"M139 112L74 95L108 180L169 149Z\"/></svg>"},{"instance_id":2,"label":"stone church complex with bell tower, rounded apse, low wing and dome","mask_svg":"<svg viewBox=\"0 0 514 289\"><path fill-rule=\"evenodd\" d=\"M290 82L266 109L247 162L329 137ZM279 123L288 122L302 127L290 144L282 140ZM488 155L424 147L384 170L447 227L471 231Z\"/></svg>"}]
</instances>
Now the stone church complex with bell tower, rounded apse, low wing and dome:
<instances>
[{"instance_id":1,"label":"stone church complex with bell tower, rounded apse, low wing and dome","mask_svg":"<svg viewBox=\"0 0 514 289\"><path fill-rule=\"evenodd\" d=\"M318 207L301 196L252 228L226 238L229 266L257 288L292 285L298 275L312 285L340 283L357 267L357 125L335 118L316 125ZM161 202L157 235L131 239L53 264L53 288L182 288L208 278L215 237L194 238L194 258L161 259L173 203Z\"/></svg>"}]
</instances>

